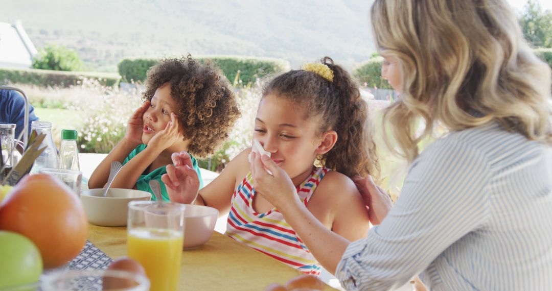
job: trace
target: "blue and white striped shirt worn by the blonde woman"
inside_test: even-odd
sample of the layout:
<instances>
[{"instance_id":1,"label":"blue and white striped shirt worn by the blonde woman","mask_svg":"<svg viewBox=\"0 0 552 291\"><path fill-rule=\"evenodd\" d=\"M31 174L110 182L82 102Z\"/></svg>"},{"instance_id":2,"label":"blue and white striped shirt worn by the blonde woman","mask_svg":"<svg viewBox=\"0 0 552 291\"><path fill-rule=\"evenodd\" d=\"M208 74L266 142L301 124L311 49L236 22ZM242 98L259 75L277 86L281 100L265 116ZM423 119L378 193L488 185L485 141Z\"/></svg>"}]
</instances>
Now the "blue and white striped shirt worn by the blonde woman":
<instances>
[{"instance_id":1,"label":"blue and white striped shirt worn by the blonde woman","mask_svg":"<svg viewBox=\"0 0 552 291\"><path fill-rule=\"evenodd\" d=\"M496 123L430 144L336 270L347 290L416 274L431 290L552 290L552 148Z\"/></svg>"}]
</instances>

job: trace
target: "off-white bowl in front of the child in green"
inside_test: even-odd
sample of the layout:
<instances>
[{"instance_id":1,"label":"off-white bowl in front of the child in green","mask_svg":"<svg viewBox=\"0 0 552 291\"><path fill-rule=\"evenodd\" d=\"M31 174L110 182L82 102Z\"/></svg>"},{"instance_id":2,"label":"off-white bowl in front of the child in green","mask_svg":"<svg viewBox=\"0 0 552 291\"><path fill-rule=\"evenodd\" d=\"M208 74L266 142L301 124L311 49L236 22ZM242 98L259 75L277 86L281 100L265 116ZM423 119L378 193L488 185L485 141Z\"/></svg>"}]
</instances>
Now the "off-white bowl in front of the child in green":
<instances>
[{"instance_id":1,"label":"off-white bowl in front of the child in green","mask_svg":"<svg viewBox=\"0 0 552 291\"><path fill-rule=\"evenodd\" d=\"M129 213L128 204L134 200L151 200L151 193L134 189L110 188L108 197L104 189L81 191L81 201L88 222L102 227L124 227Z\"/></svg>"}]
</instances>

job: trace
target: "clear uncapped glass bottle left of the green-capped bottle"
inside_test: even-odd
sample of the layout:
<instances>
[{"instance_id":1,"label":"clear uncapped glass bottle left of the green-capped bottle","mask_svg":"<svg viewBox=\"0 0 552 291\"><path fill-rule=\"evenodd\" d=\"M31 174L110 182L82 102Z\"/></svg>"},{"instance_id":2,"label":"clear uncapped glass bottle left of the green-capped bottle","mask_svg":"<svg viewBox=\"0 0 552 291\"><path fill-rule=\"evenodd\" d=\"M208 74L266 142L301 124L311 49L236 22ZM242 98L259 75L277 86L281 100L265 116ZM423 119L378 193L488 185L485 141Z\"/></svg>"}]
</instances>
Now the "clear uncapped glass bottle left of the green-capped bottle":
<instances>
[{"instance_id":1,"label":"clear uncapped glass bottle left of the green-capped bottle","mask_svg":"<svg viewBox=\"0 0 552 291\"><path fill-rule=\"evenodd\" d=\"M31 174L39 173L42 168L57 168L57 148L52 139L52 123L47 121L33 121L31 129L36 133L44 133L46 137L40 147L46 147L43 153L36 158Z\"/></svg>"}]
</instances>

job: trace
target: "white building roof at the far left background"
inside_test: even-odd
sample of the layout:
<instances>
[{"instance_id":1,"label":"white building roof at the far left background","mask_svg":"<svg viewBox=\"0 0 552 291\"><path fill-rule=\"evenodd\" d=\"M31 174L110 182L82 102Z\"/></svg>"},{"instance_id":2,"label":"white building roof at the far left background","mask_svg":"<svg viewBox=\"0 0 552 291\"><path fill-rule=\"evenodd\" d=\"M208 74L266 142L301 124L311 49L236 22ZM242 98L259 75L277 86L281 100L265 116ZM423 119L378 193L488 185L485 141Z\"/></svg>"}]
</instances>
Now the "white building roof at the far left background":
<instances>
[{"instance_id":1,"label":"white building roof at the far left background","mask_svg":"<svg viewBox=\"0 0 552 291\"><path fill-rule=\"evenodd\" d=\"M0 67L29 68L36 48L25 33L21 21L0 22Z\"/></svg>"}]
</instances>

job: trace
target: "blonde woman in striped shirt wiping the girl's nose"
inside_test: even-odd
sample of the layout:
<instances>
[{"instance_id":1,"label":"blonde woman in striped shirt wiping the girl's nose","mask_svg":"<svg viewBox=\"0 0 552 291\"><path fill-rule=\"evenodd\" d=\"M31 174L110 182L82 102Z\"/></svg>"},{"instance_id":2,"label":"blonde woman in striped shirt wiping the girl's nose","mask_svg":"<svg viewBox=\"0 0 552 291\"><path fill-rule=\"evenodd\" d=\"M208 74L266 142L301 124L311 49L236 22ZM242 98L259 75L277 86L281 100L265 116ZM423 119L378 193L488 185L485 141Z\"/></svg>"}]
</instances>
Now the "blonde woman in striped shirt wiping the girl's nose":
<instances>
[{"instance_id":1,"label":"blonde woman in striped shirt wiping the girl's nose","mask_svg":"<svg viewBox=\"0 0 552 291\"><path fill-rule=\"evenodd\" d=\"M506 0L375 1L382 73L401 93L384 117L411 167L392 208L370 177L358 180L381 220L366 238L328 231L283 170L254 155L257 191L348 290L416 274L432 290L552 285L551 73L516 19ZM448 133L418 153L437 124Z\"/></svg>"}]
</instances>

